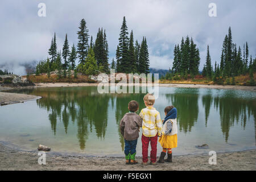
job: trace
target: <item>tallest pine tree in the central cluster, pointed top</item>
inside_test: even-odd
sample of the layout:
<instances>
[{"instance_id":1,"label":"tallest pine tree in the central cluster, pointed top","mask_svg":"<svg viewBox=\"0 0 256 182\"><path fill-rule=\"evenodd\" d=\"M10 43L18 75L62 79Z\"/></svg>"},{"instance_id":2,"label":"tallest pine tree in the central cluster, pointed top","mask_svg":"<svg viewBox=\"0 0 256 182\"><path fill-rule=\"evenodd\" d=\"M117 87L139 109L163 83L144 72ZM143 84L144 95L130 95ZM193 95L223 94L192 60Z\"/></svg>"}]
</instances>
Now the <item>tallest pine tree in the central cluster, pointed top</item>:
<instances>
[{"instance_id":1,"label":"tallest pine tree in the central cluster, pointed top","mask_svg":"<svg viewBox=\"0 0 256 182\"><path fill-rule=\"evenodd\" d=\"M120 72L129 73L129 69L130 69L129 55L128 55L129 38L128 38L125 16L123 16L123 23L122 23L121 32L119 34L118 40L119 40L119 57L120 57L120 64L118 65L118 68Z\"/></svg>"}]
</instances>

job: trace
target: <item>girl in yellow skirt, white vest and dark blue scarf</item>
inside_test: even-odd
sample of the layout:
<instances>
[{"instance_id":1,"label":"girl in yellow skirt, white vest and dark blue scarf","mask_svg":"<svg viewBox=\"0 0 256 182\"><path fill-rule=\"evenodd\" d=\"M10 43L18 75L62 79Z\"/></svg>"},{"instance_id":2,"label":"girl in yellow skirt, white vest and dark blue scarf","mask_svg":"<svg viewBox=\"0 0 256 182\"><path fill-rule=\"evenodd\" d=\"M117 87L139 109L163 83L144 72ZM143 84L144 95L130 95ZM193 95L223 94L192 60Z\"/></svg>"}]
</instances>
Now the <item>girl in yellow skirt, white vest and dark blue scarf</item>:
<instances>
[{"instance_id":1,"label":"girl in yellow skirt, white vest and dark blue scarf","mask_svg":"<svg viewBox=\"0 0 256 182\"><path fill-rule=\"evenodd\" d=\"M177 147L177 109L174 106L167 106L164 109L166 117L163 122L162 135L159 138L159 143L163 147L159 163L172 162L172 148ZM164 160L164 156L168 158Z\"/></svg>"}]
</instances>

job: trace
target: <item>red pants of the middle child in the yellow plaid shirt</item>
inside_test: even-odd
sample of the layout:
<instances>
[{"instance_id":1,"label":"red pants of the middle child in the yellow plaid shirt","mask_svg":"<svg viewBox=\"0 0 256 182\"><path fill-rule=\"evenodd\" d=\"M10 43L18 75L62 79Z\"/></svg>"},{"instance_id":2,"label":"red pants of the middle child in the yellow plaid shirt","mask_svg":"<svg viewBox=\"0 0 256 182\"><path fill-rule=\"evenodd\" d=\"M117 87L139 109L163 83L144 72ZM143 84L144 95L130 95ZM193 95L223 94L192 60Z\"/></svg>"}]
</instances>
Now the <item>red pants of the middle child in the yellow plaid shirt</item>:
<instances>
[{"instance_id":1,"label":"red pants of the middle child in the yellow plaid shirt","mask_svg":"<svg viewBox=\"0 0 256 182\"><path fill-rule=\"evenodd\" d=\"M158 144L158 134L155 137L145 137L142 135L142 161L146 163L148 161L148 144L150 142L151 152L150 152L150 160L152 163L156 162L156 152L157 152L157 144Z\"/></svg>"}]
</instances>

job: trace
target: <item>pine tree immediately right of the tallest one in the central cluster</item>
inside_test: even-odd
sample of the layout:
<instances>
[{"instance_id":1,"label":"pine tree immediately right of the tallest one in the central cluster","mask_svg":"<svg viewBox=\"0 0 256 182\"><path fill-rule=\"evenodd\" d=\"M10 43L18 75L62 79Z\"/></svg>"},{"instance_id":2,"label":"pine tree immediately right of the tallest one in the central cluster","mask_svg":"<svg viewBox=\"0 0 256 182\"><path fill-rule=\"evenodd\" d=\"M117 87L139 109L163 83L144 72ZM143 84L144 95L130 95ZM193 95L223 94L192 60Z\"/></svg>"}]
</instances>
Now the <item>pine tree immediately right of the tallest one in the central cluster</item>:
<instances>
[{"instance_id":1,"label":"pine tree immediately right of the tallest one in the central cluster","mask_svg":"<svg viewBox=\"0 0 256 182\"><path fill-rule=\"evenodd\" d=\"M128 49L129 61L130 61L130 70L129 73L137 72L137 60L135 56L134 42L133 42L133 30L131 30L130 34L130 43Z\"/></svg>"}]
</instances>

